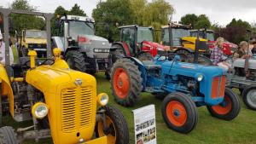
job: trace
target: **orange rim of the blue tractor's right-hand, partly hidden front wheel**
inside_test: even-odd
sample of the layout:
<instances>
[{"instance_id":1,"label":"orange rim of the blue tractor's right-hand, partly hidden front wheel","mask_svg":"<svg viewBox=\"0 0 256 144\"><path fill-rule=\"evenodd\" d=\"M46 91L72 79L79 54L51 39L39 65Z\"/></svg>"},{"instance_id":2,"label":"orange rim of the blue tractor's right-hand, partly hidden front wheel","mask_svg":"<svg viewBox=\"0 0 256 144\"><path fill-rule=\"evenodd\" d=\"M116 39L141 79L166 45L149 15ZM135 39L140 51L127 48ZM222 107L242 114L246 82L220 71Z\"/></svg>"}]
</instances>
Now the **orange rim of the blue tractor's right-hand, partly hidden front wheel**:
<instances>
[{"instance_id":1,"label":"orange rim of the blue tractor's right-hand, partly hidden front wheel","mask_svg":"<svg viewBox=\"0 0 256 144\"><path fill-rule=\"evenodd\" d=\"M225 115L229 113L232 109L232 102L230 97L224 97L224 103L218 104L217 106L212 106L212 110L220 115Z\"/></svg>"}]
</instances>

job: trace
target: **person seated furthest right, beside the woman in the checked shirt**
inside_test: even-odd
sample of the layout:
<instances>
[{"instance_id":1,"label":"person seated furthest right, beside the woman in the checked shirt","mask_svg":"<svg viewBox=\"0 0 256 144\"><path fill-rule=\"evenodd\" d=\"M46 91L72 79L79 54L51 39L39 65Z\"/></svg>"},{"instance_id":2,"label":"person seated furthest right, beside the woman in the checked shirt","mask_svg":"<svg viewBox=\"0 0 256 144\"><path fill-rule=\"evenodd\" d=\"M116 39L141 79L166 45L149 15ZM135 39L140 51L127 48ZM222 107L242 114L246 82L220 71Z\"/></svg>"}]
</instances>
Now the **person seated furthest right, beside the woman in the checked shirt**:
<instances>
[{"instance_id":1,"label":"person seated furthest right, beside the woman in the checked shirt","mask_svg":"<svg viewBox=\"0 0 256 144\"><path fill-rule=\"evenodd\" d=\"M234 59L240 58L240 59L245 59L247 56L251 57L252 52L249 48L249 44L246 41L242 41L239 44L239 49L234 53ZM247 50L249 50L247 52Z\"/></svg>"}]
</instances>

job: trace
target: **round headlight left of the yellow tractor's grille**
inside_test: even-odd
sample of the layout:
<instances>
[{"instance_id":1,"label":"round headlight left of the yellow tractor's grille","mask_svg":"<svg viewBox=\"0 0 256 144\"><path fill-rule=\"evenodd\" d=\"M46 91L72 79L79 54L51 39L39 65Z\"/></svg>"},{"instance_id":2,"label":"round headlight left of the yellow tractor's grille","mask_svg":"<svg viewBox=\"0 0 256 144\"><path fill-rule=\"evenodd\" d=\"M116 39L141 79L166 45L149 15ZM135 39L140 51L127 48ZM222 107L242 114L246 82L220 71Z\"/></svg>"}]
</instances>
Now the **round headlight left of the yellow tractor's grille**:
<instances>
[{"instance_id":1,"label":"round headlight left of the yellow tractor's grille","mask_svg":"<svg viewBox=\"0 0 256 144\"><path fill-rule=\"evenodd\" d=\"M35 118L42 119L47 116L48 112L49 107L43 102L38 102L32 107L32 115Z\"/></svg>"}]
</instances>

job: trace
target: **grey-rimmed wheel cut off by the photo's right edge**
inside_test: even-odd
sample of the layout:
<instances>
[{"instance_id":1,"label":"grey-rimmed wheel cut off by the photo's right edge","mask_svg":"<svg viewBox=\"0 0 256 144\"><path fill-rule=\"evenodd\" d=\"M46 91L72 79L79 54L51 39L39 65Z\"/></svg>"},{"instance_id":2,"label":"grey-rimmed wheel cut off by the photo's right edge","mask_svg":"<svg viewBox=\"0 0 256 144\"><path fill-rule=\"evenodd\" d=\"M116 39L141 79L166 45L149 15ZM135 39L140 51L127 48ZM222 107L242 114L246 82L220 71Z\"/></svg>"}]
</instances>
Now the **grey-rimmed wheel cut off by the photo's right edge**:
<instances>
[{"instance_id":1,"label":"grey-rimmed wheel cut off by the photo's right edge","mask_svg":"<svg viewBox=\"0 0 256 144\"><path fill-rule=\"evenodd\" d=\"M242 100L248 108L256 111L256 86L255 85L243 90Z\"/></svg>"}]
</instances>

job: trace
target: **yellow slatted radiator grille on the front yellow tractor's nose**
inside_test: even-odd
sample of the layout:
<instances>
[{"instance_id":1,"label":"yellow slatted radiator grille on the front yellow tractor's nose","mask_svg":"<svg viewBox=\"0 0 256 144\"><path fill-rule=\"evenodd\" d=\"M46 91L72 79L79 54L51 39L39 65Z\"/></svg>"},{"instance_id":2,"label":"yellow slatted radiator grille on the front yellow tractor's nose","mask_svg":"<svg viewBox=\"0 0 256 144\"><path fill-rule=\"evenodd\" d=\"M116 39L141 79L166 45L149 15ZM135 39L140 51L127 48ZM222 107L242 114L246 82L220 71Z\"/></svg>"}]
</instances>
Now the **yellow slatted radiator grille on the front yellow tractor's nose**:
<instances>
[{"instance_id":1,"label":"yellow slatted radiator grille on the front yellow tractor's nose","mask_svg":"<svg viewBox=\"0 0 256 144\"><path fill-rule=\"evenodd\" d=\"M61 128L73 132L92 122L92 89L90 87L61 90Z\"/></svg>"}]
</instances>

